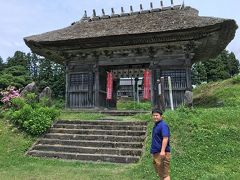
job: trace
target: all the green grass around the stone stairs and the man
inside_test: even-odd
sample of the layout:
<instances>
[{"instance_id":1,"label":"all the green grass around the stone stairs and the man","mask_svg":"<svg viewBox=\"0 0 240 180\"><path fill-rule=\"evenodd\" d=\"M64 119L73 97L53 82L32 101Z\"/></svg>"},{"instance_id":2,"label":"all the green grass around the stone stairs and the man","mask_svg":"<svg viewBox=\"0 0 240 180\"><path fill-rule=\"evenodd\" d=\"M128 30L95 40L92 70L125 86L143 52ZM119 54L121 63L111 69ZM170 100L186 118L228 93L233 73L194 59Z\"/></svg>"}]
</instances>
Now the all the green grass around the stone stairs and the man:
<instances>
[{"instance_id":1,"label":"all the green grass around the stone stairs and the man","mask_svg":"<svg viewBox=\"0 0 240 180\"><path fill-rule=\"evenodd\" d=\"M208 102L215 96L224 101L198 104L198 108L167 111L164 119L171 129L173 180L238 180L240 177L240 106L238 84L224 81L204 85L195 91L198 98ZM228 85L228 86L226 86ZM205 90L201 89L205 88ZM211 89L214 88L215 90ZM227 93L232 89L230 93ZM202 93L208 90L207 94ZM232 93L236 93L231 103ZM211 106L210 106L211 105ZM201 107L202 106L202 107ZM211 107L211 108L209 108ZM67 114L67 119L98 118L99 114ZM6 120L0 119L0 179L80 179L80 180L157 180L149 154L150 114L139 114L131 120L148 121L145 152L137 164L84 163L25 156L36 138L18 132Z\"/></svg>"}]
</instances>

